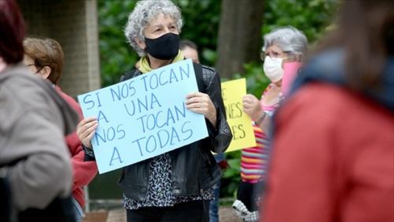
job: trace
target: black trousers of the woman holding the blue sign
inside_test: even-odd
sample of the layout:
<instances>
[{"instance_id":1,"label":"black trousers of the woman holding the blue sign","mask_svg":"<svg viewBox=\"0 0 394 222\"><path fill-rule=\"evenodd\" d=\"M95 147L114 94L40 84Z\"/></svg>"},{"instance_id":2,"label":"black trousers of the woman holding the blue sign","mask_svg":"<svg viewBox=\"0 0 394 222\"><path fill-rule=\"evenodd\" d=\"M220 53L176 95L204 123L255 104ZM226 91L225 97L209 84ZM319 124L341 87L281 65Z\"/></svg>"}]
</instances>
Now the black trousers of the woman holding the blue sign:
<instances>
[{"instance_id":1,"label":"black trousers of the woman holding the blue sign","mask_svg":"<svg viewBox=\"0 0 394 222\"><path fill-rule=\"evenodd\" d=\"M209 200L127 210L127 222L209 222Z\"/></svg>"}]
</instances>

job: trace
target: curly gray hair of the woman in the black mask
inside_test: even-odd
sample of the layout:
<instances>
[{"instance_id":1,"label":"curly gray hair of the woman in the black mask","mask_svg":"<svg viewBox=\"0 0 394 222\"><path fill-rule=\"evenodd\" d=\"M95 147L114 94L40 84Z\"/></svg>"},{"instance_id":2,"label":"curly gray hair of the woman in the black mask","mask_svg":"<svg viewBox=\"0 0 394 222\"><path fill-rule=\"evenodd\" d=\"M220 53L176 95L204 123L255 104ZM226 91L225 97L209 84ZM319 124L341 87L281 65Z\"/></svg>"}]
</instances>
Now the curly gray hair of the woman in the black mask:
<instances>
[{"instance_id":1,"label":"curly gray hair of the woman in the black mask","mask_svg":"<svg viewBox=\"0 0 394 222\"><path fill-rule=\"evenodd\" d=\"M141 57L145 56L146 52L138 46L135 38L144 41L144 29L152 19L161 13L174 19L180 33L183 25L181 9L170 0L140 0L135 4L134 10L129 15L125 36L131 47Z\"/></svg>"}]
</instances>

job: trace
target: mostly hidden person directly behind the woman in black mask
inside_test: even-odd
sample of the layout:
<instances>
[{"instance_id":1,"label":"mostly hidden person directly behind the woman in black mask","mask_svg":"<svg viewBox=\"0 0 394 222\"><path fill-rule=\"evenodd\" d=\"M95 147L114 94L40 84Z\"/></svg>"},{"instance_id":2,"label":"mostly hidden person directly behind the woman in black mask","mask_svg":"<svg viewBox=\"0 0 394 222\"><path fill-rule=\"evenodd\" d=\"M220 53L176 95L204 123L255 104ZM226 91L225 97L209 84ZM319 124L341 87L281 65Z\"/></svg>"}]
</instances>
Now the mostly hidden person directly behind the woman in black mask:
<instances>
[{"instance_id":1,"label":"mostly hidden person directly behind the woman in black mask","mask_svg":"<svg viewBox=\"0 0 394 222\"><path fill-rule=\"evenodd\" d=\"M199 63L198 59L198 48L196 43L189 39L183 39L179 43L183 56L187 59L192 59L194 63ZM224 153L214 154L216 163L218 163L220 169L225 170L228 167L227 160L225 159ZM219 195L220 195L220 180L218 181L217 187L214 190L215 199L209 204L209 221L219 222Z\"/></svg>"}]
</instances>

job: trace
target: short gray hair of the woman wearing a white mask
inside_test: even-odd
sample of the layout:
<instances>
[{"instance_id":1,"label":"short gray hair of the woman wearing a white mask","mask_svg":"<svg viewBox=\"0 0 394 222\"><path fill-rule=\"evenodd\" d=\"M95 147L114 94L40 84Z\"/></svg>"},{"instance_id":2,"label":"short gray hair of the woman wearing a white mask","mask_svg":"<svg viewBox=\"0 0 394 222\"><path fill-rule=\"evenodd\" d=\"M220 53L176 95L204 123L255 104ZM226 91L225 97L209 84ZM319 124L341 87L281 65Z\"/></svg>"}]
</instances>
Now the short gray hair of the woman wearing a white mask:
<instances>
[{"instance_id":1,"label":"short gray hair of the woman wearing a white mask","mask_svg":"<svg viewBox=\"0 0 394 222\"><path fill-rule=\"evenodd\" d=\"M262 50L265 51L273 44L297 59L301 59L308 49L308 39L292 26L277 28L266 34Z\"/></svg>"}]
</instances>

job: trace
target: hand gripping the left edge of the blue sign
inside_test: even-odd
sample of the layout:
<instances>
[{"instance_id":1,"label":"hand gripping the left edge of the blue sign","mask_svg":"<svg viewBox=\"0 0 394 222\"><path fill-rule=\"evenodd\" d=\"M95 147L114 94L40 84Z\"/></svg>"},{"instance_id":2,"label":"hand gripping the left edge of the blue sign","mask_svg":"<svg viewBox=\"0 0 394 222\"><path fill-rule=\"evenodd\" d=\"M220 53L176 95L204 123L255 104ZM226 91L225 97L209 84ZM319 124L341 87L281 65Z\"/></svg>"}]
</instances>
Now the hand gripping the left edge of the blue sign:
<instances>
[{"instance_id":1,"label":"hand gripping the left edge of the blue sign","mask_svg":"<svg viewBox=\"0 0 394 222\"><path fill-rule=\"evenodd\" d=\"M98 126L99 122L96 117L87 117L78 123L77 135L85 147L92 148L92 143L90 141L93 135L95 135Z\"/></svg>"}]
</instances>

